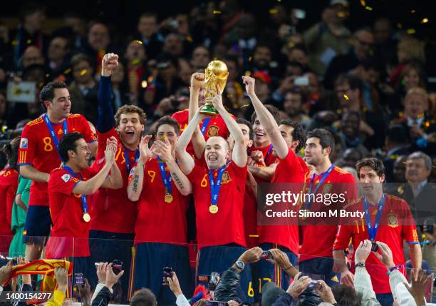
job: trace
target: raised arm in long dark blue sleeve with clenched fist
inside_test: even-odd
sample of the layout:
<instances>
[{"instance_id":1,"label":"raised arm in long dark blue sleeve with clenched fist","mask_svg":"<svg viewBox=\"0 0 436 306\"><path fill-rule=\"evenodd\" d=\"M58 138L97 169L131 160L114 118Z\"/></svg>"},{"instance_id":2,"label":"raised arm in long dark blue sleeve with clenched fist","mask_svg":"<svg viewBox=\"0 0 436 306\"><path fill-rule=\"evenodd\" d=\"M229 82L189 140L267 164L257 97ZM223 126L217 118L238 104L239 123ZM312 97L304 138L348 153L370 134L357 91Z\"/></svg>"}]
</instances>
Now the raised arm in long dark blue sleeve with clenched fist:
<instances>
[{"instance_id":1,"label":"raised arm in long dark blue sleeve with clenched fist","mask_svg":"<svg viewBox=\"0 0 436 306\"><path fill-rule=\"evenodd\" d=\"M108 53L101 60L101 77L98 85L98 121L97 130L106 133L115 126L113 109L110 103L112 97L112 83L110 76L113 69L118 66L118 55Z\"/></svg>"}]
</instances>

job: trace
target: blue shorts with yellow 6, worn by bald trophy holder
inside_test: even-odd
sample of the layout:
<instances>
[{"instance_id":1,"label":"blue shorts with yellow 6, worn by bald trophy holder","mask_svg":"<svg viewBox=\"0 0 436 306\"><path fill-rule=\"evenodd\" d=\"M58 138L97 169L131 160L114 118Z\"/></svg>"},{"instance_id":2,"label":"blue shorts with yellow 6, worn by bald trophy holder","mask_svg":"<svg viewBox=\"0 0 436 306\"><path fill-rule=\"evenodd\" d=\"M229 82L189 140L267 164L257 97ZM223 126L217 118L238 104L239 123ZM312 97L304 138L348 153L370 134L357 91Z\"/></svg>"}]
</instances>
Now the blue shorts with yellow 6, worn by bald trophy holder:
<instances>
[{"instance_id":1,"label":"blue shorts with yellow 6, worn by bald trophy holder","mask_svg":"<svg viewBox=\"0 0 436 306\"><path fill-rule=\"evenodd\" d=\"M219 275L222 275L222 272L232 267L234 262L245 251L246 248L239 245L218 245L201 248L197 255L196 285L208 287L207 282L199 280L206 277L209 278L211 272L219 272ZM250 265L246 265L241 272L241 282L239 285L238 295L242 302L254 302Z\"/></svg>"}]
</instances>

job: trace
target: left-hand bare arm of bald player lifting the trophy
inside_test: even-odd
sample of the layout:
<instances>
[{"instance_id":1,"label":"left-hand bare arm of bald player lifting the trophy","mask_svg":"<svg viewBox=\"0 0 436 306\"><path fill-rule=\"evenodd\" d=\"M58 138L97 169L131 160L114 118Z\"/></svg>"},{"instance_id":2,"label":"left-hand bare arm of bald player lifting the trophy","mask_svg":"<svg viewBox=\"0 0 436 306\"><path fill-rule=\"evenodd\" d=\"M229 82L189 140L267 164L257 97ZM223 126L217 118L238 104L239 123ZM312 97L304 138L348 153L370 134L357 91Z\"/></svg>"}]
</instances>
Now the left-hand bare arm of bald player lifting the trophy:
<instances>
[{"instance_id":1,"label":"left-hand bare arm of bald player lifting the trophy","mask_svg":"<svg viewBox=\"0 0 436 306\"><path fill-rule=\"evenodd\" d=\"M187 153L186 148L188 143L190 143L191 141L194 129L197 128L198 123L201 120L202 115L197 112L194 115L194 118L192 118L188 126L185 128L185 131L183 131L182 135L177 140L175 146L175 152L177 155L177 160L179 160L180 169L182 169L183 173L185 173L186 175L192 172L192 169L194 169L195 165L194 159L192 158L190 153Z\"/></svg>"}]
</instances>

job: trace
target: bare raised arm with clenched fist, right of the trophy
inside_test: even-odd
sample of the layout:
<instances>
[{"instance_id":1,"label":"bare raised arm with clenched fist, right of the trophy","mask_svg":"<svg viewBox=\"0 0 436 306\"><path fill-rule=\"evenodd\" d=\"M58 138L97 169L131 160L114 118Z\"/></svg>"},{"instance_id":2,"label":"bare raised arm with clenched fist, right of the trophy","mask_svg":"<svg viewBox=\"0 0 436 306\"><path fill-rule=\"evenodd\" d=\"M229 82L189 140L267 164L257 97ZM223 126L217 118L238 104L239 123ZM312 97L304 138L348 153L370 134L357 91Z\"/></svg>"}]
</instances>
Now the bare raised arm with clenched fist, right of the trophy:
<instances>
[{"instance_id":1,"label":"bare raised arm with clenched fist, right of the trophy","mask_svg":"<svg viewBox=\"0 0 436 306\"><path fill-rule=\"evenodd\" d=\"M251 103L253 103L256 116L259 118L261 125L264 126L266 135L271 139L274 151L276 151L276 154L280 159L286 158L286 155L289 153L288 145L281 136L279 126L274 120L274 117L269 113L264 104L261 103L259 98L257 98L256 93L254 93L254 78L242 76L242 80L245 84L246 93L248 93Z\"/></svg>"}]
</instances>

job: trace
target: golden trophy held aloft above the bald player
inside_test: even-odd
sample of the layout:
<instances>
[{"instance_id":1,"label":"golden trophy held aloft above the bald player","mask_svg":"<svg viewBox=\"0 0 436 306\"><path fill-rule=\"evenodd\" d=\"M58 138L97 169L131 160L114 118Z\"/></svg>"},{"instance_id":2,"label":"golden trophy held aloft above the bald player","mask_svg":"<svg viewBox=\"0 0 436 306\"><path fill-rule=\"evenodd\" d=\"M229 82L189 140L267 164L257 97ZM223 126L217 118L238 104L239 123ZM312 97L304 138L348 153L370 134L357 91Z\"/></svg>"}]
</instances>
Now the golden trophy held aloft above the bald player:
<instances>
[{"instance_id":1,"label":"golden trophy held aloft above the bald player","mask_svg":"<svg viewBox=\"0 0 436 306\"><path fill-rule=\"evenodd\" d=\"M219 95L222 94L224 91L224 87L226 86L227 77L229 76L229 70L227 69L226 64L224 61L211 61L206 68L205 71L205 87L206 91L213 91L214 93L218 93ZM219 86L219 90L221 92L218 92L217 85ZM212 93L206 92L205 94L206 98L212 98ZM214 108L214 105L212 102L206 102L202 109L200 110L200 113L204 113L206 115L217 115L218 111Z\"/></svg>"}]
</instances>

